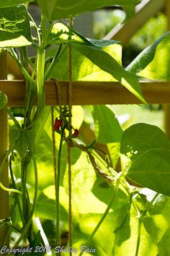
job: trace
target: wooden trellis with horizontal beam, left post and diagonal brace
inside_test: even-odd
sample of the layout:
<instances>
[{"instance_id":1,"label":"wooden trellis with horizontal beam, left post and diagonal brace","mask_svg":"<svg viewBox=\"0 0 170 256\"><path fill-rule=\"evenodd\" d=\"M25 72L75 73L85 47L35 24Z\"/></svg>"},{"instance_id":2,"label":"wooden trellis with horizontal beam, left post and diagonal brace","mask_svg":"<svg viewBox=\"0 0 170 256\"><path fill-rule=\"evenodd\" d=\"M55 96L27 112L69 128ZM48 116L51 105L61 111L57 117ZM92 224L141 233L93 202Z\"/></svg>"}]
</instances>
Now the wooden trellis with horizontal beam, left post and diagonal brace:
<instances>
[{"instance_id":1,"label":"wooden trellis with horizontal beam, left post and diagonal brace","mask_svg":"<svg viewBox=\"0 0 170 256\"><path fill-rule=\"evenodd\" d=\"M170 0L144 0L143 6L138 9L136 16L119 30L114 29L105 38L121 40L127 43L130 37L159 10L165 10L170 20ZM129 29L130 28L130 29ZM170 22L169 22L170 28ZM24 81L6 79L6 56L1 56L0 68L0 90L8 96L8 106L24 106ZM62 104L68 104L68 82L60 81L63 90ZM148 103L170 103L170 82L148 81L140 82L143 95ZM58 105L58 95L55 81L45 82L45 104L47 106ZM136 104L140 103L132 93L126 90L119 82L73 82L73 105L94 105L94 104ZM36 104L36 102L35 102ZM167 113L170 113L167 112ZM170 116L170 115L169 115ZM7 115L4 110L0 111L0 161L7 150ZM7 186L8 172L7 163L3 174L4 184ZM3 208L1 207L3 205ZM0 220L9 217L8 193L0 189ZM0 232L0 242L4 240L6 231ZM6 245L9 242L6 241Z\"/></svg>"}]
</instances>

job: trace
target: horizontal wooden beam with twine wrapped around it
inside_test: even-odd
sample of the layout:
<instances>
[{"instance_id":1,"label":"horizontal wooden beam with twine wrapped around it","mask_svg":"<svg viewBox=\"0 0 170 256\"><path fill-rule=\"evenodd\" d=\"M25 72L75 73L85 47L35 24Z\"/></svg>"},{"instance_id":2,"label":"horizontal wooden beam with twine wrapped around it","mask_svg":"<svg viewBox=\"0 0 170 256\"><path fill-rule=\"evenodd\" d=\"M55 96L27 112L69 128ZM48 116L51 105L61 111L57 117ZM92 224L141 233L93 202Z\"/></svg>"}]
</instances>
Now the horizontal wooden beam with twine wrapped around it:
<instances>
[{"instance_id":1,"label":"horizontal wooden beam with twine wrapped around it","mask_svg":"<svg viewBox=\"0 0 170 256\"><path fill-rule=\"evenodd\" d=\"M148 103L170 103L170 82L140 82ZM68 82L58 82L62 105L68 104ZM24 106L24 81L0 80L0 90L9 99L8 106ZM119 82L73 82L73 105L138 104L140 101ZM45 82L45 104L58 105L55 81Z\"/></svg>"}]
</instances>

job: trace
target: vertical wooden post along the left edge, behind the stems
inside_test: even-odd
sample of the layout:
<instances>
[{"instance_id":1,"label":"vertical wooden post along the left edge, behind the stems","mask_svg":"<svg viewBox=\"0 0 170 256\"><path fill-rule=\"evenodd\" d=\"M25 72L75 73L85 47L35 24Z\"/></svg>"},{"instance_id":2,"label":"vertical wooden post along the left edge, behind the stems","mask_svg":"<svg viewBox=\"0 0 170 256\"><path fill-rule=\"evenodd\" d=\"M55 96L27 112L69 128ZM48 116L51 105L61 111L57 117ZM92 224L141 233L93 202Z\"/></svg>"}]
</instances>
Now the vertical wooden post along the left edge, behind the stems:
<instances>
[{"instance_id":1,"label":"vertical wooden post along the left edge, behind the stems","mask_svg":"<svg viewBox=\"0 0 170 256\"><path fill-rule=\"evenodd\" d=\"M6 64L6 51L0 54L0 79L5 80L7 77L7 64ZM0 110L0 163L4 158L7 150L8 142L8 117L5 109ZM8 187L8 163L6 162L4 172L2 174L2 179L4 186ZM9 217L9 192L4 191L0 188L0 219ZM8 227L0 231L0 248L6 241L6 246L9 247L9 239L6 239L8 235Z\"/></svg>"}]
</instances>

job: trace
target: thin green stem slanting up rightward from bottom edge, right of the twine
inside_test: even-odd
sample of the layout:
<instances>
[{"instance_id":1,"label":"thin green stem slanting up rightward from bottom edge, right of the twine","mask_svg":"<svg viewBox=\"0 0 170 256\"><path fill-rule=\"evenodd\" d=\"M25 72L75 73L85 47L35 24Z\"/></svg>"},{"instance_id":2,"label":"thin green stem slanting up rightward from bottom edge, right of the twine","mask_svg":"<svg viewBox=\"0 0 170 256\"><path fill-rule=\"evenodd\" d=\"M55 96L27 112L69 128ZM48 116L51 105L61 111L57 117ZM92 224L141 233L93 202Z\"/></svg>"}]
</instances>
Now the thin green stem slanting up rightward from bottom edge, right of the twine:
<instances>
[{"instance_id":1,"label":"thin green stem slanting up rightward from bottom edge, right of the twine","mask_svg":"<svg viewBox=\"0 0 170 256\"><path fill-rule=\"evenodd\" d=\"M120 185L120 179L122 177L122 173L117 175L117 181L116 181L116 185L115 185L115 190L114 193L112 195L112 198L109 202L109 205L107 206L107 209L105 210L104 214L102 215L102 218L99 220L99 222L97 223L97 226L95 227L94 231L91 233L91 235L89 236L89 239L86 242L86 246L88 247L89 244L91 243L92 238L94 237L94 235L97 233L97 230L99 229L99 227L102 225L104 219L107 217L107 214L109 213L110 208L112 207L113 202L115 201L115 197L117 195L118 189L119 189L119 185ZM81 252L79 254L79 256L83 255L84 252Z\"/></svg>"}]
</instances>

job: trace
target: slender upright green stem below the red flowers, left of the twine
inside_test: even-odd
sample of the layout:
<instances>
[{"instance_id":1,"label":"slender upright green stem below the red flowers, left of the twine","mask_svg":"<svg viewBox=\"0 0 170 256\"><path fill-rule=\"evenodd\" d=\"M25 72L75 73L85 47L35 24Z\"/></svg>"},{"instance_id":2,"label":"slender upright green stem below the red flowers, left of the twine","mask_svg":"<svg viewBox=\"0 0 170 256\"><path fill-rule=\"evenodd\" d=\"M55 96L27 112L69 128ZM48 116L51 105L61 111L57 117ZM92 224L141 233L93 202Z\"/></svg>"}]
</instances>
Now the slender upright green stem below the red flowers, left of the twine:
<instances>
[{"instance_id":1,"label":"slender upright green stem below the red flowers, left of the twine","mask_svg":"<svg viewBox=\"0 0 170 256\"><path fill-rule=\"evenodd\" d=\"M55 175L55 198L56 198L56 246L61 244L61 231L60 231L60 178L61 178L61 152L63 145L63 131L61 132L61 141L58 149L58 173Z\"/></svg>"}]
</instances>

